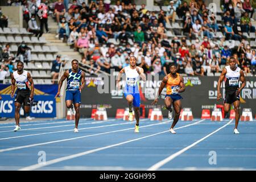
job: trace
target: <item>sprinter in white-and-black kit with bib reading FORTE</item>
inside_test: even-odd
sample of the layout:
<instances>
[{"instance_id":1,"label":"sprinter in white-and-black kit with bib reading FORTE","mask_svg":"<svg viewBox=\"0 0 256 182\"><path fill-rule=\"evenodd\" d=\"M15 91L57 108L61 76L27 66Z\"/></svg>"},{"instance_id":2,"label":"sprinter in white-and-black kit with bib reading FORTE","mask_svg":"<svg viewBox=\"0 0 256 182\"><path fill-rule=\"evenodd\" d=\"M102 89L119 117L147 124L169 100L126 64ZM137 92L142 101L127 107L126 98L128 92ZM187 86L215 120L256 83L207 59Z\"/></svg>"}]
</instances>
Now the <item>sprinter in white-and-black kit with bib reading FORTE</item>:
<instances>
[{"instance_id":1,"label":"sprinter in white-and-black kit with bib reading FORTE","mask_svg":"<svg viewBox=\"0 0 256 182\"><path fill-rule=\"evenodd\" d=\"M237 60L234 57L230 57L229 65L226 66L220 78L218 78L218 95L217 101L221 98L220 87L222 81L225 79L225 100L224 100L224 111L225 115L229 112L231 104L234 105L234 110L236 112L236 125L234 128L234 134L239 134L237 130L239 118L240 118L240 92L245 87L245 74L243 71L236 66ZM239 86L239 81L242 82Z\"/></svg>"}]
</instances>

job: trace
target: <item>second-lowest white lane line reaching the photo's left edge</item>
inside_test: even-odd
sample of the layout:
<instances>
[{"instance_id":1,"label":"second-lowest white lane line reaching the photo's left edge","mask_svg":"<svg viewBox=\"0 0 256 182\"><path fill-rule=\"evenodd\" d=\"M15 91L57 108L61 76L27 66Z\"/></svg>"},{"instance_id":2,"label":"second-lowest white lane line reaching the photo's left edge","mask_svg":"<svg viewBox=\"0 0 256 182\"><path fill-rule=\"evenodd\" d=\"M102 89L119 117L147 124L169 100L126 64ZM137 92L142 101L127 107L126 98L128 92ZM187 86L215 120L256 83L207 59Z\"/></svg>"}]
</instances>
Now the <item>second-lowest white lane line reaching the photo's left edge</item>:
<instances>
[{"instance_id":1,"label":"second-lowest white lane line reaching the photo's left edge","mask_svg":"<svg viewBox=\"0 0 256 182\"><path fill-rule=\"evenodd\" d=\"M141 119L141 121L144 121L144 120L146 120L146 119ZM97 129L97 128L109 127L109 126L128 125L128 124L130 124L130 122L117 123L117 124L112 124L112 125L84 127L84 128L79 129L79 131L80 130L88 130L88 129ZM31 136L37 136L37 135L53 134L53 133L63 133L63 132L66 132L66 131L73 131L73 129L72 130L52 131L52 132L47 132L47 133L38 133L38 134L31 134L31 135L21 135L21 136L17 136L17 137L0 138L0 140L7 140L7 139L13 139L13 138L22 138L22 137L31 137Z\"/></svg>"}]
</instances>

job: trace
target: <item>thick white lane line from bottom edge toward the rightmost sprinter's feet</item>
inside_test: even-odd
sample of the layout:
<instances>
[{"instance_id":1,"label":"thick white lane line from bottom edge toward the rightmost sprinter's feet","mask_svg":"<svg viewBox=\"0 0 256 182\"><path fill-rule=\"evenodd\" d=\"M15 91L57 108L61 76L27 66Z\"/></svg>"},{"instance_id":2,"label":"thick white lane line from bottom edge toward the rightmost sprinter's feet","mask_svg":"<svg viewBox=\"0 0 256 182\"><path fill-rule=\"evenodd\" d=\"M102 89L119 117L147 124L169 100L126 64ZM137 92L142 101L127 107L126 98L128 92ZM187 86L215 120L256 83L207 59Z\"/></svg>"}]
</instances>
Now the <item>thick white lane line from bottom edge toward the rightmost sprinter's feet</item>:
<instances>
[{"instance_id":1,"label":"thick white lane line from bottom edge toward the rightmost sprinter's feet","mask_svg":"<svg viewBox=\"0 0 256 182\"><path fill-rule=\"evenodd\" d=\"M155 171L157 169L159 169L160 167L162 167L164 164L170 162L172 159L176 158L177 156L179 156L180 154L183 154L185 151L189 150L189 148L192 148L193 146L196 146L196 144L202 142L203 140L207 139L208 137L210 137L211 135L213 135L214 133L217 133L218 131L220 131L221 129L224 129L224 127L228 126L231 122L233 121L233 119L231 119L228 123L226 123L224 126L221 126L220 128L218 128L217 130L213 131L212 133L206 135L205 137L201 138L200 140L197 140L196 142L192 143L191 145L183 148L180 151L177 151L176 153L168 156L168 158L161 160L160 162L154 164L153 166L151 166L150 168L148 168L148 171Z\"/></svg>"}]
</instances>

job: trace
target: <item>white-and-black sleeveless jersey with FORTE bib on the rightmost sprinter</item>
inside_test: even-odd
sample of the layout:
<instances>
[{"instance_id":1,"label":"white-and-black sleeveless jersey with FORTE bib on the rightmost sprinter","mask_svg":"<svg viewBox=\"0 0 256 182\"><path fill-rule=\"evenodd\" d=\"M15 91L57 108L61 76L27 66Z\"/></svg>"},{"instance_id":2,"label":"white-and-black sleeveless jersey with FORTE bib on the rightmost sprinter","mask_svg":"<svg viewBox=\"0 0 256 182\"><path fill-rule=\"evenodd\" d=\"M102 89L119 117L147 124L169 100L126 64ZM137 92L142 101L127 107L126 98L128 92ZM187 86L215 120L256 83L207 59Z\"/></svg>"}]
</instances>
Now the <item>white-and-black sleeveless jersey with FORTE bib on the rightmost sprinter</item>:
<instances>
[{"instance_id":1,"label":"white-and-black sleeveless jersey with FORTE bib on the rightmost sprinter","mask_svg":"<svg viewBox=\"0 0 256 182\"><path fill-rule=\"evenodd\" d=\"M225 90L228 94L233 94L239 88L240 68L237 67L235 71L230 69L230 66L226 66L225 75Z\"/></svg>"}]
</instances>

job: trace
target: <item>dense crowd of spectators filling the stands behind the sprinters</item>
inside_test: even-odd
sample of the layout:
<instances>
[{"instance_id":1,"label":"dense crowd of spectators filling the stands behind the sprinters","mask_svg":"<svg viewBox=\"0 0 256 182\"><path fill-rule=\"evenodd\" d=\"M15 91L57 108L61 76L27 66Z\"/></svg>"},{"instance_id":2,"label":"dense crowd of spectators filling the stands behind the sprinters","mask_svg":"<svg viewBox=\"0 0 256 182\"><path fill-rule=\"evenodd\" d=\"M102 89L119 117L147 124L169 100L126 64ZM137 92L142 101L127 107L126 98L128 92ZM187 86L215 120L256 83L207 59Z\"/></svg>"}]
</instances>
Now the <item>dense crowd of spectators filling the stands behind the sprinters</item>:
<instances>
[{"instance_id":1,"label":"dense crowd of spectators filling the stands behind the sprinters","mask_svg":"<svg viewBox=\"0 0 256 182\"><path fill-rule=\"evenodd\" d=\"M114 6L110 6L113 2ZM90 73L100 70L109 73L110 68L120 71L129 65L129 57L134 55L137 65L152 74L167 75L168 65L176 63L181 74L204 76L221 72L232 56L237 57L238 66L246 75L256 74L255 50L244 35L245 32L255 34L251 23L254 1L221 1L222 22L217 22L216 14L210 14L203 0L170 1L167 11L160 9L157 13L148 11L145 5L137 10L137 5L129 0L113 2L100 0L86 4L84 0L69 3L57 0L47 3L45 14L56 19L57 37L82 54L81 62L90 65ZM36 3L38 1L22 1L28 25L34 14L32 5L39 7ZM172 26L177 18L182 34L167 37L167 25ZM47 29L47 20L43 24ZM34 33L40 36L44 26L38 27L41 28ZM217 32L224 36L216 36ZM188 46L187 40L192 44ZM239 46L235 46L237 40Z\"/></svg>"}]
</instances>

